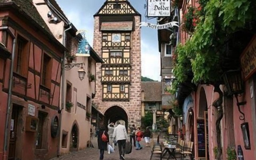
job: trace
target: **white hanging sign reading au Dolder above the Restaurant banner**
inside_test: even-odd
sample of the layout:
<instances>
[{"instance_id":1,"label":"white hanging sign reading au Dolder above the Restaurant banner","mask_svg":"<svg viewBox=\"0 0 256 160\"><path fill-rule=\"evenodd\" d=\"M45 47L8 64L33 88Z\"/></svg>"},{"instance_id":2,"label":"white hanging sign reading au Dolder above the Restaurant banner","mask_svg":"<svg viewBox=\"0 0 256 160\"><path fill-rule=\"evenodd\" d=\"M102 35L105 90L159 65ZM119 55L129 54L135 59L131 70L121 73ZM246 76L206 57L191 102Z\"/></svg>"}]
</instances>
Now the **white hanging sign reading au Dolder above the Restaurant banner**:
<instances>
[{"instance_id":1,"label":"white hanging sign reading au Dolder above the Restaurant banner","mask_svg":"<svg viewBox=\"0 0 256 160\"><path fill-rule=\"evenodd\" d=\"M164 17L171 14L170 0L148 0L148 17Z\"/></svg>"}]
</instances>

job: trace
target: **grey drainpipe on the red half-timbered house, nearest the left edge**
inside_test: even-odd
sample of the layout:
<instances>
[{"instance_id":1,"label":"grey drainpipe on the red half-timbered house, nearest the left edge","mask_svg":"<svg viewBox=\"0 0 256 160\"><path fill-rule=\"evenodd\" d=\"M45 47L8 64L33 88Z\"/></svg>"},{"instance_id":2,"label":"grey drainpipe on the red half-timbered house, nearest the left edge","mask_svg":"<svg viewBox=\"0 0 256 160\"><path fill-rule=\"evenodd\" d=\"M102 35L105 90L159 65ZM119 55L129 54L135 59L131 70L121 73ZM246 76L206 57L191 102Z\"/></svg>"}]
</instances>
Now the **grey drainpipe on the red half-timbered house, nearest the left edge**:
<instances>
[{"instance_id":1,"label":"grey drainpipe on the red half-timbered house, nearest the left edge","mask_svg":"<svg viewBox=\"0 0 256 160\"><path fill-rule=\"evenodd\" d=\"M10 118L10 112L11 112L11 97L12 97L12 77L13 77L13 66L14 66L14 57L15 57L15 48L16 48L16 37L15 35L10 31L8 26L0 27L0 30L7 30L8 33L13 38L12 42L12 60L11 60L11 66L10 66L10 76L9 76L9 88L8 88L8 103L7 103L7 112L6 112L6 122L5 122L5 130L4 130L4 155L3 160L7 160L8 154L8 136L9 136L9 118Z\"/></svg>"}]
</instances>

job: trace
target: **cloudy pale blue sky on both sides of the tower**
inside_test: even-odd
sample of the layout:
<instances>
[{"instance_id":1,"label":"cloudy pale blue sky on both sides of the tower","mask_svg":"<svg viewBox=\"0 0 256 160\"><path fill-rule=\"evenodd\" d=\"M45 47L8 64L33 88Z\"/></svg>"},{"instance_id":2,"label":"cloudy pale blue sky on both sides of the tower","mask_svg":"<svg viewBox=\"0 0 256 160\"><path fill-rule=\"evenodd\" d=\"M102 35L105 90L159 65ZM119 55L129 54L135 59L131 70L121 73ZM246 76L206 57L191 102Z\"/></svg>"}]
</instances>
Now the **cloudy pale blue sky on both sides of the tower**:
<instances>
[{"instance_id":1,"label":"cloudy pale blue sky on both sides of the tower","mask_svg":"<svg viewBox=\"0 0 256 160\"><path fill-rule=\"evenodd\" d=\"M86 30L89 43L93 44L93 15L106 0L56 0L68 19L78 30ZM142 15L142 22L146 21L145 0L129 0L132 6ZM147 20L156 23L156 20ZM141 58L142 76L160 81L160 53L158 52L157 30L142 27L141 29Z\"/></svg>"}]
</instances>

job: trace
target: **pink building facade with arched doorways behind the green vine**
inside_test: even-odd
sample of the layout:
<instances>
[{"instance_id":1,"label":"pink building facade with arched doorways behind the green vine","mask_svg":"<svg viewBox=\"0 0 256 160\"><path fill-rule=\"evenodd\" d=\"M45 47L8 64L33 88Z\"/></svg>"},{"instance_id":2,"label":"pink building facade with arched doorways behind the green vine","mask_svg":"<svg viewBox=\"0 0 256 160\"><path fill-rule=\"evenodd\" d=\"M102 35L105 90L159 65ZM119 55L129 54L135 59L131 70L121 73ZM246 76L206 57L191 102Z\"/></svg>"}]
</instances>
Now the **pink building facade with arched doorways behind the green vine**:
<instances>
[{"instance_id":1,"label":"pink building facade with arched doorways behind the green vine","mask_svg":"<svg viewBox=\"0 0 256 160\"><path fill-rule=\"evenodd\" d=\"M183 2L180 17L189 6L198 7L198 4L196 0L188 3ZM238 107L236 97L228 95L227 86L220 85L224 94L223 118L220 122L222 160L227 160L228 147L235 148L237 158L243 156L245 160L256 159L256 76L254 69L249 70L249 73L244 72L250 68L249 66L252 66L254 59L252 58L248 64L242 61L256 43L255 35L248 34L247 36L249 37L248 46L245 46L238 55L240 57L239 67L242 70L238 74L242 74L242 83L244 84L244 90L241 96L238 96L238 102L246 102L246 104ZM188 38L190 35L180 30L180 42L186 44ZM252 51L252 54L255 55L256 52ZM214 148L217 146L216 120L218 109L212 104L219 98L219 94L214 92L214 86L201 84L195 86L190 92L186 92L185 95L182 100L184 140L194 142L195 160L215 160ZM238 148L242 149L242 153Z\"/></svg>"}]
</instances>

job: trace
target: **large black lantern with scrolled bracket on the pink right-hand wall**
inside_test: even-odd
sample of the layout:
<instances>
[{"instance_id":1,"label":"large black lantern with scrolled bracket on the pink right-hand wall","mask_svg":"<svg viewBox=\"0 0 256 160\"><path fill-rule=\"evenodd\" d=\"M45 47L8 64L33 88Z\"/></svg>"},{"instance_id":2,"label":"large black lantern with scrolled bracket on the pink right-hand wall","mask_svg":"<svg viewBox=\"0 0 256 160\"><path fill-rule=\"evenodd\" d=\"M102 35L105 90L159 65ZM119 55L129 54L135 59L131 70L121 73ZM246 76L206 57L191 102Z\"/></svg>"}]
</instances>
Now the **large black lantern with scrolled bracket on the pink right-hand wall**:
<instances>
[{"instance_id":1,"label":"large black lantern with scrolled bracket on the pink right-hand wall","mask_svg":"<svg viewBox=\"0 0 256 160\"><path fill-rule=\"evenodd\" d=\"M240 106L246 104L246 101L239 102L238 95L241 96L244 93L244 81L242 80L242 72L240 70L229 70L223 74L225 86L227 88L228 95L235 95L236 105L238 111L242 114L239 116L240 120L244 120L244 113L240 110Z\"/></svg>"}]
</instances>

